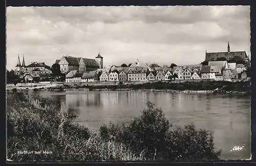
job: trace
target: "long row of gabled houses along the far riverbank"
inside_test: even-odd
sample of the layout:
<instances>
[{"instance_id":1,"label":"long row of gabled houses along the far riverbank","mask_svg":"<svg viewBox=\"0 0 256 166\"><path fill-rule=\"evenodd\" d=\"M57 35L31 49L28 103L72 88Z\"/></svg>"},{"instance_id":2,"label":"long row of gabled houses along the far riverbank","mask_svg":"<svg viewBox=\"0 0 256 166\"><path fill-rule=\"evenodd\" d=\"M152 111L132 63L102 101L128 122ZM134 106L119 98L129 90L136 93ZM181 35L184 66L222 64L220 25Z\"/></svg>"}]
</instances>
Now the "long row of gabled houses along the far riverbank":
<instances>
[{"instance_id":1,"label":"long row of gabled houses along the far riverbank","mask_svg":"<svg viewBox=\"0 0 256 166\"><path fill-rule=\"evenodd\" d=\"M141 67L136 63L130 67L97 69L80 73L72 70L66 75L66 82L90 81L161 81L161 80L230 80L246 78L246 68L242 64L227 61L209 61L207 66L201 64L169 67Z\"/></svg>"}]
</instances>

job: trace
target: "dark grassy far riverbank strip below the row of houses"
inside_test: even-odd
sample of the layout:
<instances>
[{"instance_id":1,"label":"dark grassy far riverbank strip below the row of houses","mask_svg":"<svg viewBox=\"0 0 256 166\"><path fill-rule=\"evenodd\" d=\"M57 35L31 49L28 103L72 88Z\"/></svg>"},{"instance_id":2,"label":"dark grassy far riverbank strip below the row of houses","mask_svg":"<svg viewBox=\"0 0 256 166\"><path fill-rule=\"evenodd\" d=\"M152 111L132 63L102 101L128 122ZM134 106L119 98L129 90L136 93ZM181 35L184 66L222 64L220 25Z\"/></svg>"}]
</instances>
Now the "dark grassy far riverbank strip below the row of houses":
<instances>
[{"instance_id":1,"label":"dark grassy far riverbank strip below the row of houses","mask_svg":"<svg viewBox=\"0 0 256 166\"><path fill-rule=\"evenodd\" d=\"M26 89L9 88L10 90ZM250 81L228 82L154 82L145 84L130 85L65 85L63 87L30 87L35 91L40 90L76 90L88 89L89 91L146 91L146 92L169 92L169 93L217 93L217 94L250 94Z\"/></svg>"}]
</instances>

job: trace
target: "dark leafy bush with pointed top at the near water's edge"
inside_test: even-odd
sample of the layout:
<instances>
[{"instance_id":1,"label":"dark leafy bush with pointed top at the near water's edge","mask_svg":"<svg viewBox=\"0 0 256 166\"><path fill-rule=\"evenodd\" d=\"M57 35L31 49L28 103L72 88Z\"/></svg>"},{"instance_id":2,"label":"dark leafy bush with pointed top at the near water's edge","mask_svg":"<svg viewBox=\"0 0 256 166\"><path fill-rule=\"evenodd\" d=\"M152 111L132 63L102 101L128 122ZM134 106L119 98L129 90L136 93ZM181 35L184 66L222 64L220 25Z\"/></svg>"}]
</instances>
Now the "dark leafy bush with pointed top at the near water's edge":
<instances>
[{"instance_id":1,"label":"dark leafy bush with pointed top at the near water's edge","mask_svg":"<svg viewBox=\"0 0 256 166\"><path fill-rule=\"evenodd\" d=\"M129 145L133 151L145 150L145 157L157 160L212 160L218 159L221 151L215 151L211 132L196 130L193 124L184 128L172 127L162 110L148 102L142 115L130 125L102 125L102 138Z\"/></svg>"}]
</instances>

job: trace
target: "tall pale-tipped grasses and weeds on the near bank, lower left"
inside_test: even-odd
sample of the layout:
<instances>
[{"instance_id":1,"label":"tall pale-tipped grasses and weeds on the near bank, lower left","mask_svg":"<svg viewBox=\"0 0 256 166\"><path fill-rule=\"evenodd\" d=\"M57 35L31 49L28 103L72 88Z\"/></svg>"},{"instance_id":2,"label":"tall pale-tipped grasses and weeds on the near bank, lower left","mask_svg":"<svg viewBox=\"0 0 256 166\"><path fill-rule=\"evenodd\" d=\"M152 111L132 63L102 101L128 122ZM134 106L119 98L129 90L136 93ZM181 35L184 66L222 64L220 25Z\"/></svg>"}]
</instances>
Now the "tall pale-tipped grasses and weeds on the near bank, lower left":
<instances>
[{"instance_id":1,"label":"tall pale-tipped grasses and weeds on the near bank, lower left","mask_svg":"<svg viewBox=\"0 0 256 166\"><path fill-rule=\"evenodd\" d=\"M41 154L18 151L41 151ZM88 128L72 122L54 101L22 93L7 97L7 158L14 161L144 159L143 151L132 153L122 143L106 142Z\"/></svg>"}]
</instances>

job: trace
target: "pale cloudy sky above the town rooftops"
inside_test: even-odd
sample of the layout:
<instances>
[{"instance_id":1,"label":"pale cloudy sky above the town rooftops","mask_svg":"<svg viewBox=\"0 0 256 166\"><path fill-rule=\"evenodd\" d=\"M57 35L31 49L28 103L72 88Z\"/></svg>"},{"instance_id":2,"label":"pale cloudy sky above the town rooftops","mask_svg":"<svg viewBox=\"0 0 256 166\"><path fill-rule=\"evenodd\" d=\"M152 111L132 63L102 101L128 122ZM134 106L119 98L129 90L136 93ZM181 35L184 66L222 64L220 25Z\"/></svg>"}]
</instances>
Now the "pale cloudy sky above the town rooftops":
<instances>
[{"instance_id":1,"label":"pale cloudy sky above the town rooftops","mask_svg":"<svg viewBox=\"0 0 256 166\"><path fill-rule=\"evenodd\" d=\"M7 7L7 69L62 56L95 58L103 66L199 64L205 51L246 51L249 6ZM22 63L22 62L21 62Z\"/></svg>"}]
</instances>

